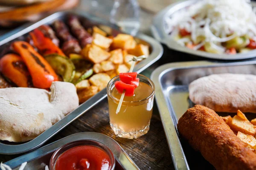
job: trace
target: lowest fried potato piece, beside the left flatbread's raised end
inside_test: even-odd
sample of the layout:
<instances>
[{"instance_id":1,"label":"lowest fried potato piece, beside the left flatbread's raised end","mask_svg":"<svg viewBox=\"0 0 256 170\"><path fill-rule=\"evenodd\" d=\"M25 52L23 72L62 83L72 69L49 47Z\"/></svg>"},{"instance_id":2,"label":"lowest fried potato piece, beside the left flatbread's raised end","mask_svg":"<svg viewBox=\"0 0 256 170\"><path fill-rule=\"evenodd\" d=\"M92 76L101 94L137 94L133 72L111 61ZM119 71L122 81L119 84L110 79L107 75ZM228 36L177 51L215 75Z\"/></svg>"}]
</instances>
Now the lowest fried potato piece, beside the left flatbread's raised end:
<instances>
[{"instance_id":1,"label":"lowest fried potato piece, beside the left flatbread's raised end","mask_svg":"<svg viewBox=\"0 0 256 170\"><path fill-rule=\"evenodd\" d=\"M98 93L98 87L95 85L91 85L88 88L84 88L77 92L79 103L83 103L86 100L90 99L92 96Z\"/></svg>"}]
</instances>

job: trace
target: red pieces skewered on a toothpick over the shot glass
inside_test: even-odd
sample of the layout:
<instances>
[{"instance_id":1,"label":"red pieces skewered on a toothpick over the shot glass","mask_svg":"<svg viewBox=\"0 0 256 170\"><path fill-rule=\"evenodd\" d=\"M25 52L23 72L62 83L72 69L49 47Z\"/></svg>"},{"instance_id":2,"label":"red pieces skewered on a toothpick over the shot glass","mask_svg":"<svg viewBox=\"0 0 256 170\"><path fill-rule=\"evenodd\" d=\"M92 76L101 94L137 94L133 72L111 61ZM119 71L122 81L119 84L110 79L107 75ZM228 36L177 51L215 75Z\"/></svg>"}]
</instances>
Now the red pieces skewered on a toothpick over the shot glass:
<instances>
[{"instance_id":1,"label":"red pieces skewered on a toothpick over the shot glass","mask_svg":"<svg viewBox=\"0 0 256 170\"><path fill-rule=\"evenodd\" d=\"M115 82L116 90L122 94L125 91L125 96L133 96L134 90L139 86L140 79L137 78L137 73L120 73L120 81Z\"/></svg>"}]
</instances>

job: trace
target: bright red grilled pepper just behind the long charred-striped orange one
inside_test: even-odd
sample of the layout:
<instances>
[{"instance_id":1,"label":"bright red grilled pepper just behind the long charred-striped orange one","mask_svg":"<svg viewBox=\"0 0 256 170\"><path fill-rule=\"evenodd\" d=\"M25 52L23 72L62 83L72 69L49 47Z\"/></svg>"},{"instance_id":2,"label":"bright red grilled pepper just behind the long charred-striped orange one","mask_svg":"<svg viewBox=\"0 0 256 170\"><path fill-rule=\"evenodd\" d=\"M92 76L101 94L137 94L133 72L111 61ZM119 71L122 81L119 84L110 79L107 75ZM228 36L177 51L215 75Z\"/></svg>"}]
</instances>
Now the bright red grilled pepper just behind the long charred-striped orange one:
<instances>
[{"instance_id":1,"label":"bright red grilled pepper just behind the long charred-striped orange one","mask_svg":"<svg viewBox=\"0 0 256 170\"><path fill-rule=\"evenodd\" d=\"M35 29L29 34L32 37L35 47L38 48L42 55L55 53L59 55L64 55L61 49L58 48L58 46L56 46L51 39L45 37L39 29Z\"/></svg>"}]
</instances>

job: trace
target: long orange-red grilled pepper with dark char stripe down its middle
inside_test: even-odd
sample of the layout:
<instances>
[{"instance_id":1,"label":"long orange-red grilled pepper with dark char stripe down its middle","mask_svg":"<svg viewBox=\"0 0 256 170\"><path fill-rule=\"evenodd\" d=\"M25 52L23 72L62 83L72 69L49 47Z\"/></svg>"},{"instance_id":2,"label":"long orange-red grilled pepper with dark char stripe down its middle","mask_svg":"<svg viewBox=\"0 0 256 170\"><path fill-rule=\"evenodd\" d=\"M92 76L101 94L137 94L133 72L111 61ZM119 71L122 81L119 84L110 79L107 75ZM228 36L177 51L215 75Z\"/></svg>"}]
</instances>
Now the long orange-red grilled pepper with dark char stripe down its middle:
<instances>
[{"instance_id":1,"label":"long orange-red grilled pepper with dark char stripe down its middle","mask_svg":"<svg viewBox=\"0 0 256 170\"><path fill-rule=\"evenodd\" d=\"M36 88L50 88L53 81L58 81L49 63L29 43L15 41L13 47L25 62Z\"/></svg>"}]
</instances>

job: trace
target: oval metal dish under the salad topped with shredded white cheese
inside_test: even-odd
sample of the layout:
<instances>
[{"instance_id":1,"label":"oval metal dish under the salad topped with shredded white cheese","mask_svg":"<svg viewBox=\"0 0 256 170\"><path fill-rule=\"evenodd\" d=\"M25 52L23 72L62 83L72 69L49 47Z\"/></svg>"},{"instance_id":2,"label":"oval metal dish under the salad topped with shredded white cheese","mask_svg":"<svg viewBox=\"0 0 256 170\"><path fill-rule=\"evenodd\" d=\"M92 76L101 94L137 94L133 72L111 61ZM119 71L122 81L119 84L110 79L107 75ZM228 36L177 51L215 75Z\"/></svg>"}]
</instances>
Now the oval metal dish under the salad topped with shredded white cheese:
<instances>
[{"instance_id":1,"label":"oval metal dish under the salad topped with shredded white cheese","mask_svg":"<svg viewBox=\"0 0 256 170\"><path fill-rule=\"evenodd\" d=\"M191 6L192 4L201 1L201 0L180 0L177 3L173 3L166 8L164 8L162 11L157 13L157 15L153 19L153 23L151 26L151 32L154 35L154 37L162 42L163 44L166 44L169 48L181 52L185 52L188 54L211 58L211 59L225 59L225 60L233 60L233 59L248 59L256 57L256 51L252 50L247 53L240 53L235 55L227 55L227 54L212 54L205 51L195 51L186 47L183 47L179 45L175 40L173 40L169 36L169 32L166 32L166 18L172 16L175 12L182 8L186 8L188 6ZM251 2L253 7L256 7L256 2Z\"/></svg>"}]
</instances>

